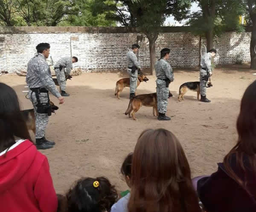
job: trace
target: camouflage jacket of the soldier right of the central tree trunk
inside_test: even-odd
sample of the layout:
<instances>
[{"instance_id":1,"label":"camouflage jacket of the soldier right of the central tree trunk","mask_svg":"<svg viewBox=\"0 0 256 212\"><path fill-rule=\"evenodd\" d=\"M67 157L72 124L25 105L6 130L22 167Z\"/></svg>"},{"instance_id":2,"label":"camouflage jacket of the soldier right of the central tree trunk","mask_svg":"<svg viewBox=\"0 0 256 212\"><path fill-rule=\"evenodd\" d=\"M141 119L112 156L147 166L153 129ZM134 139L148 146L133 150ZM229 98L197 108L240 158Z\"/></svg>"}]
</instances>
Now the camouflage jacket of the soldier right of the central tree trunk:
<instances>
[{"instance_id":1,"label":"camouflage jacket of the soldier right of the central tree trunk","mask_svg":"<svg viewBox=\"0 0 256 212\"><path fill-rule=\"evenodd\" d=\"M169 79L171 82L174 80L172 67L165 59L160 59L155 65L156 76L159 79Z\"/></svg>"}]
</instances>

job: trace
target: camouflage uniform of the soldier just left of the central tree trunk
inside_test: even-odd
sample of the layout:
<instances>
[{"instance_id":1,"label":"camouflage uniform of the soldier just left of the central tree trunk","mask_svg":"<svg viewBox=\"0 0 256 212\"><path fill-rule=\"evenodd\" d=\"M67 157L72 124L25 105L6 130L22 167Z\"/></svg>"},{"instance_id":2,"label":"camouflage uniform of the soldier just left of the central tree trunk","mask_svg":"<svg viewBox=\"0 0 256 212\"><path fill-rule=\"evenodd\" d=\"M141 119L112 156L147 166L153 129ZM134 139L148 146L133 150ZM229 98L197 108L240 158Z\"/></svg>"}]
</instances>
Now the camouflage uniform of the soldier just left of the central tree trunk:
<instances>
[{"instance_id":1,"label":"camouflage uniform of the soldier just left of the central tree trunk","mask_svg":"<svg viewBox=\"0 0 256 212\"><path fill-rule=\"evenodd\" d=\"M140 69L140 62L138 61L136 54L132 50L128 51L126 54L128 73L130 74L130 93L135 93L137 89L137 79L138 79L138 69ZM135 65L137 70L131 73L131 67Z\"/></svg>"}]
</instances>

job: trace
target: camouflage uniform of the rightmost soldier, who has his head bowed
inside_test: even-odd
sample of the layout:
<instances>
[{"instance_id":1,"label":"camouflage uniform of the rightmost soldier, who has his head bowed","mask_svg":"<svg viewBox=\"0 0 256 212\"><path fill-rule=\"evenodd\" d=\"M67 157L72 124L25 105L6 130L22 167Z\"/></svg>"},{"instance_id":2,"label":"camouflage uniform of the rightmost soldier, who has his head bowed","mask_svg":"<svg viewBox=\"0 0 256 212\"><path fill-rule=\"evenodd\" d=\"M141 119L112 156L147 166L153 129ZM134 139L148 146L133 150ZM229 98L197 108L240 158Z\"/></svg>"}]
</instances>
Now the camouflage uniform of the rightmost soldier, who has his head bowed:
<instances>
[{"instance_id":1,"label":"camouflage uniform of the rightmost soldier, who has his head bowed","mask_svg":"<svg viewBox=\"0 0 256 212\"><path fill-rule=\"evenodd\" d=\"M205 54L202 58L201 58L201 69L200 69L200 94L201 96L206 96L206 87L205 87L205 83L206 82L206 77L208 72L212 73L212 55L211 53L207 53ZM202 68L208 69L204 70Z\"/></svg>"}]
</instances>

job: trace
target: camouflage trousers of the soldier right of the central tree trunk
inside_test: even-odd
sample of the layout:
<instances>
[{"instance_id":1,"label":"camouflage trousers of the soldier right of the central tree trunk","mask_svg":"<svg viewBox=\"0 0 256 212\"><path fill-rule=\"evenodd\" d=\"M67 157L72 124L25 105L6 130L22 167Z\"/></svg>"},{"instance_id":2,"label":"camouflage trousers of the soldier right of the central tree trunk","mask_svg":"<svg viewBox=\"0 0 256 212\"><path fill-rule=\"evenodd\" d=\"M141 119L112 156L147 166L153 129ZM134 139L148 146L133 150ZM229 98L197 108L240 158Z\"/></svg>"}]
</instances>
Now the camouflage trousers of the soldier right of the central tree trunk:
<instances>
[{"instance_id":1,"label":"camouflage trousers of the soldier right of the central tree trunk","mask_svg":"<svg viewBox=\"0 0 256 212\"><path fill-rule=\"evenodd\" d=\"M169 88L166 88L166 82L157 79L157 110L158 113L166 113L169 97Z\"/></svg>"}]
</instances>

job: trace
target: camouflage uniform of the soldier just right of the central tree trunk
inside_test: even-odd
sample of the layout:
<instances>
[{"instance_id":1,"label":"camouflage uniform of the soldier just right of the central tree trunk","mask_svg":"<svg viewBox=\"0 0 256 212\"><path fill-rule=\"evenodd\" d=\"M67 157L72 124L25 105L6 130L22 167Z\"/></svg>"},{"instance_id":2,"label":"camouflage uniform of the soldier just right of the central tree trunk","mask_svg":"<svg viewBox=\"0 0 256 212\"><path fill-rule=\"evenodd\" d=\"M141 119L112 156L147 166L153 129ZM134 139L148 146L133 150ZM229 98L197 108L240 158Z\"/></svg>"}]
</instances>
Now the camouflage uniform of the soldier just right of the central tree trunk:
<instances>
[{"instance_id":1,"label":"camouflage uniform of the soldier just right of the central tree trunk","mask_svg":"<svg viewBox=\"0 0 256 212\"><path fill-rule=\"evenodd\" d=\"M165 60L160 59L155 65L157 76L157 110L159 113L167 112L167 104L169 97L169 88L166 88L166 81L162 79L174 80L174 75L171 65Z\"/></svg>"}]
</instances>

